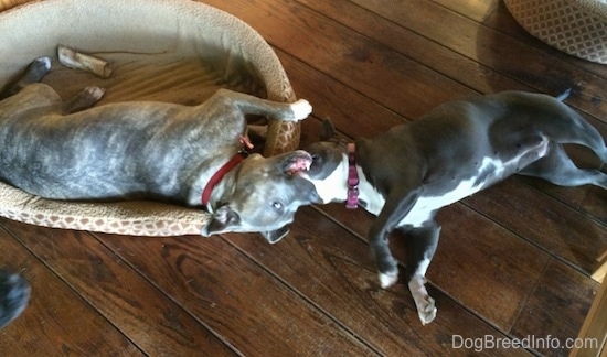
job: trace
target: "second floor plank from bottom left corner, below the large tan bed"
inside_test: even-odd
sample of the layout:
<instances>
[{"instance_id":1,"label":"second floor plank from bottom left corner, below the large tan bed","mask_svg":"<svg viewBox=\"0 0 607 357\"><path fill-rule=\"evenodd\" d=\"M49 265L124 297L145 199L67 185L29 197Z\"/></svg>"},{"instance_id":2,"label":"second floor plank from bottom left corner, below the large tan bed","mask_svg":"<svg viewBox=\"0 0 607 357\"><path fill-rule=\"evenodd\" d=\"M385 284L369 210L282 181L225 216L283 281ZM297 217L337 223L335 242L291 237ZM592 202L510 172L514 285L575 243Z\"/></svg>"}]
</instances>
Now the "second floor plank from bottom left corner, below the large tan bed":
<instances>
[{"instance_id":1,"label":"second floor plank from bottom left corner, below the large tan bed","mask_svg":"<svg viewBox=\"0 0 607 357\"><path fill-rule=\"evenodd\" d=\"M3 221L3 225L146 354L213 350L217 356L233 355L194 317L135 273L90 234L14 221ZM146 253L145 250L138 252ZM102 332L90 328L90 333Z\"/></svg>"}]
</instances>

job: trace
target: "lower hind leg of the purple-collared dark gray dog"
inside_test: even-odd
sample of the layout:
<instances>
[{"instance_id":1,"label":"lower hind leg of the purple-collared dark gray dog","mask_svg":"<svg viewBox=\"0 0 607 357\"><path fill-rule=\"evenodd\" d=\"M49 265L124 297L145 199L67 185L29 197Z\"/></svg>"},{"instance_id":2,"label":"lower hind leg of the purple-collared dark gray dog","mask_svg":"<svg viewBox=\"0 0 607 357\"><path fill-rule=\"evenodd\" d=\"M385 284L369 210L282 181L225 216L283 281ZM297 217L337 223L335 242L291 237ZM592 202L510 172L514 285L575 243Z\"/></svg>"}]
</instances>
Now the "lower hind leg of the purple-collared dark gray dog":
<instances>
[{"instance_id":1,"label":"lower hind leg of the purple-collared dark gray dog","mask_svg":"<svg viewBox=\"0 0 607 357\"><path fill-rule=\"evenodd\" d=\"M595 185L607 190L607 174L577 167L562 144L551 141L547 154L522 169L519 174L544 178L560 186Z\"/></svg>"}]
</instances>

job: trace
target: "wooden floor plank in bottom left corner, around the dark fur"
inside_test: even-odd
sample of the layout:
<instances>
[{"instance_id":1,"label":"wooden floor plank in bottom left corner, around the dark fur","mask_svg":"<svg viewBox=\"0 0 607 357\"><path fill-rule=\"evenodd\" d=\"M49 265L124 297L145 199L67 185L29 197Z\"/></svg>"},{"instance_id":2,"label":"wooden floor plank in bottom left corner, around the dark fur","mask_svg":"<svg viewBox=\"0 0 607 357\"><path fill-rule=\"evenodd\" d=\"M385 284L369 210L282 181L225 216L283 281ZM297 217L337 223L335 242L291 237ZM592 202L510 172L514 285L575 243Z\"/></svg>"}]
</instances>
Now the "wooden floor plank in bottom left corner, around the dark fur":
<instances>
[{"instance_id":1,"label":"wooden floor plank in bottom left corner, around the dark fur","mask_svg":"<svg viewBox=\"0 0 607 357\"><path fill-rule=\"evenodd\" d=\"M0 223L3 226L7 220L2 218ZM33 231L30 235L35 237ZM3 228L0 228L0 250L3 252L0 266L22 272L32 289L28 309L0 329L2 355L143 355Z\"/></svg>"}]
</instances>

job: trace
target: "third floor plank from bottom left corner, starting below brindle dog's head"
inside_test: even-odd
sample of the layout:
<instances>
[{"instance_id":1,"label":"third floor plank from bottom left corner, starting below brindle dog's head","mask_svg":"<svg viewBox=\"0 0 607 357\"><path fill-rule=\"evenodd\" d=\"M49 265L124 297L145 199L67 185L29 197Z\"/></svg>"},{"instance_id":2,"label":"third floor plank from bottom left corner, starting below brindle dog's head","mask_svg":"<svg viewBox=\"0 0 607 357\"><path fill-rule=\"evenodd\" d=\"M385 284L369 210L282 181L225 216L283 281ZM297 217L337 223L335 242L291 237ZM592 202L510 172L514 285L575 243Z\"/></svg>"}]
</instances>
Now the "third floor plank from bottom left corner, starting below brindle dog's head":
<instances>
[{"instance_id":1,"label":"third floor plank from bottom left corner, starting below brindle dog's head","mask_svg":"<svg viewBox=\"0 0 607 357\"><path fill-rule=\"evenodd\" d=\"M375 354L219 236L99 239L244 355Z\"/></svg>"}]
</instances>

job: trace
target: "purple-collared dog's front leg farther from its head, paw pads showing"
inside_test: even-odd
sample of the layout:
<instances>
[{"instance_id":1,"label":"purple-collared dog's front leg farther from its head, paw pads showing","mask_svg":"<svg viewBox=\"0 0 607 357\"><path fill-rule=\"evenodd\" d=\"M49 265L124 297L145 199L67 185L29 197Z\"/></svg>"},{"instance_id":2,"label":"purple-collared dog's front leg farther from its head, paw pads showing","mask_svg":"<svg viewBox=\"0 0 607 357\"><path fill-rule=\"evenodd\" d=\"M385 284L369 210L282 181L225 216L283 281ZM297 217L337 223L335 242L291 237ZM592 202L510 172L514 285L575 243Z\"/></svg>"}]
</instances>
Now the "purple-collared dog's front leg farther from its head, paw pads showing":
<instances>
[{"instance_id":1,"label":"purple-collared dog's front leg farther from its head, paw pads showing","mask_svg":"<svg viewBox=\"0 0 607 357\"><path fill-rule=\"evenodd\" d=\"M436 251L440 226L432 220L422 228L403 231L407 239L407 266L405 278L408 289L415 301L417 315L422 324L426 325L436 317L436 305L424 285L426 271Z\"/></svg>"}]
</instances>

